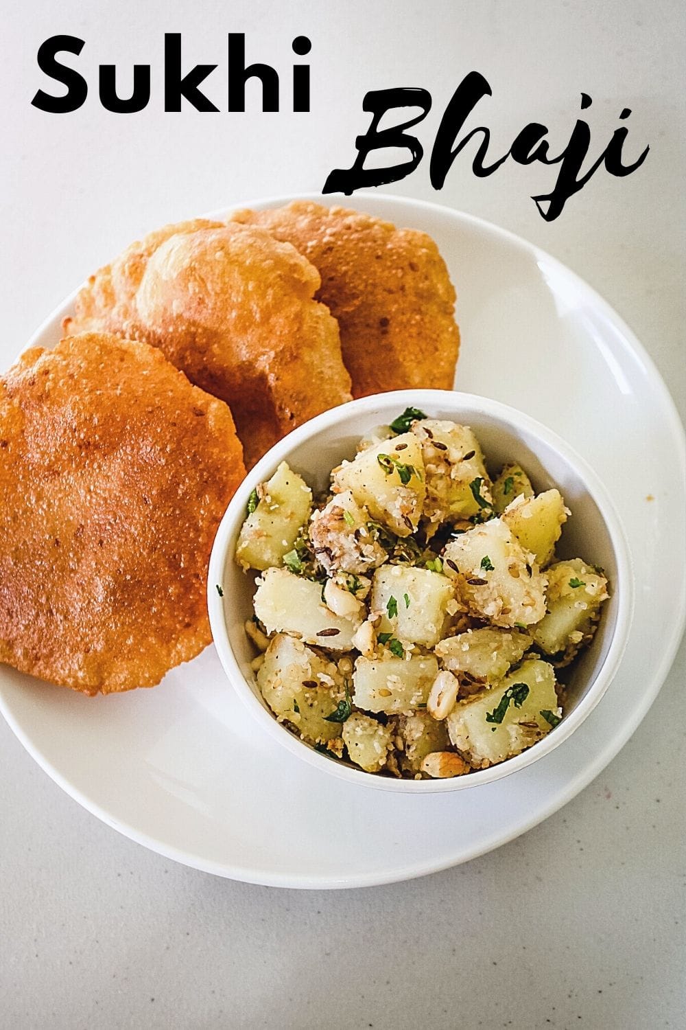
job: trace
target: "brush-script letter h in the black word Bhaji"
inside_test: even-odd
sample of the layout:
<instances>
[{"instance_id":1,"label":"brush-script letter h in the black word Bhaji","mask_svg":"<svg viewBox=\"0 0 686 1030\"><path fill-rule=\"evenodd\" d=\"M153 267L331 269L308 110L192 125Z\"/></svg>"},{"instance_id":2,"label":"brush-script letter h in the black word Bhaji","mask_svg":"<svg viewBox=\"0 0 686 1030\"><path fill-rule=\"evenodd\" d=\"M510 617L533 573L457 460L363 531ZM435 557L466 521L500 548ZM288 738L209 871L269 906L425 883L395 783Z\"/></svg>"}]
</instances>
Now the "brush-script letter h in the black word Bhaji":
<instances>
[{"instance_id":1,"label":"brush-script letter h in the black word Bhaji","mask_svg":"<svg viewBox=\"0 0 686 1030\"><path fill-rule=\"evenodd\" d=\"M481 97L486 96L492 96L489 82L479 72L470 71L468 75L465 75L450 97L443 117L440 121L433 150L431 151L429 174L434 190L442 190L445 176L449 172L453 162L476 133L483 133L483 139L479 143L478 150L472 161L474 175L478 175L479 178L492 175L507 160L508 154L506 153L494 162L493 165L485 166L483 164L489 143L491 142L491 133L484 126L472 129L459 143L453 146L467 117L471 114Z\"/></svg>"}]
</instances>

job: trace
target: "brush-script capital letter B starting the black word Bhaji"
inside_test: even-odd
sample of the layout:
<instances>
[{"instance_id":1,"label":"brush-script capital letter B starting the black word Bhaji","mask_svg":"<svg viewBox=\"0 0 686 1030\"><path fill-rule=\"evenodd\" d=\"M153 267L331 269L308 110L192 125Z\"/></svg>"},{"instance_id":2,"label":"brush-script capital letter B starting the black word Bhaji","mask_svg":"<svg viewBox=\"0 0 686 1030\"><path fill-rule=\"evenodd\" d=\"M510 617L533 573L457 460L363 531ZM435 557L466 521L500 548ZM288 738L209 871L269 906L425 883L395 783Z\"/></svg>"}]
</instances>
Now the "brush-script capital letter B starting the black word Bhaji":
<instances>
[{"instance_id":1,"label":"brush-script capital letter B starting the black word Bhaji","mask_svg":"<svg viewBox=\"0 0 686 1030\"><path fill-rule=\"evenodd\" d=\"M378 124L388 111L397 107L419 107L421 113L408 122L378 131ZM334 168L324 183L322 193L344 193L350 196L364 186L380 186L387 182L397 182L413 172L422 158L424 148L416 136L409 136L404 129L411 129L427 116L431 110L431 94L421 87L398 87L392 90L372 90L365 95L363 111L371 111L371 123L364 136L355 140L357 158L352 168ZM365 168L365 159L372 150L386 147L402 147L410 152L407 161L386 168Z\"/></svg>"}]
</instances>

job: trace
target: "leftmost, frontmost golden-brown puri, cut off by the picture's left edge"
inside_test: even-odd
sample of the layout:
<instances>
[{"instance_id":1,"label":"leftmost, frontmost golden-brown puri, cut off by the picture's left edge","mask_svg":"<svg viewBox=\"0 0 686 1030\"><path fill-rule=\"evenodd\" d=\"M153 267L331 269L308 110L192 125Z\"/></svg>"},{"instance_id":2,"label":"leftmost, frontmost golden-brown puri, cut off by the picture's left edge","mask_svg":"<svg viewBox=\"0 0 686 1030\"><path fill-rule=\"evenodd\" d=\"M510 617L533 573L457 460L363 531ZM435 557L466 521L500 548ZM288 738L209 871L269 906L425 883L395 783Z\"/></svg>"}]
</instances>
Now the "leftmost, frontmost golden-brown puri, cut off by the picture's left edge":
<instances>
[{"instance_id":1,"label":"leftmost, frontmost golden-brown puri, cut off by the picture's left edge","mask_svg":"<svg viewBox=\"0 0 686 1030\"><path fill-rule=\"evenodd\" d=\"M96 694L193 658L244 476L229 409L160 350L92 333L27 351L0 377L0 661Z\"/></svg>"}]
</instances>

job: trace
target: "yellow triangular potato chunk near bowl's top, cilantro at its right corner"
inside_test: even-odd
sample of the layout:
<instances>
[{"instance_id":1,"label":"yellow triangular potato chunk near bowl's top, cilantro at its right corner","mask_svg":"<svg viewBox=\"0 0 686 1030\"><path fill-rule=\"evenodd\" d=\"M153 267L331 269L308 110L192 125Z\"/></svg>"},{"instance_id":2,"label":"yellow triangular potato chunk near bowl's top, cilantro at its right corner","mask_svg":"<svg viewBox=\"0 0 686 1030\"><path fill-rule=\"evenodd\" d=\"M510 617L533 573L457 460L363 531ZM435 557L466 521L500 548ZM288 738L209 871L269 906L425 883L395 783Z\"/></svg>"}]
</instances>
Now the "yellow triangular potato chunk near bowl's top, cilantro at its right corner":
<instances>
[{"instance_id":1,"label":"yellow triangular potato chunk near bowl's top, cilantro at its right corner","mask_svg":"<svg viewBox=\"0 0 686 1030\"><path fill-rule=\"evenodd\" d=\"M336 493L351 490L372 519L398 537L408 537L417 529L426 484L422 447L412 433L361 451L355 460L345 461L334 471L332 481Z\"/></svg>"}]
</instances>

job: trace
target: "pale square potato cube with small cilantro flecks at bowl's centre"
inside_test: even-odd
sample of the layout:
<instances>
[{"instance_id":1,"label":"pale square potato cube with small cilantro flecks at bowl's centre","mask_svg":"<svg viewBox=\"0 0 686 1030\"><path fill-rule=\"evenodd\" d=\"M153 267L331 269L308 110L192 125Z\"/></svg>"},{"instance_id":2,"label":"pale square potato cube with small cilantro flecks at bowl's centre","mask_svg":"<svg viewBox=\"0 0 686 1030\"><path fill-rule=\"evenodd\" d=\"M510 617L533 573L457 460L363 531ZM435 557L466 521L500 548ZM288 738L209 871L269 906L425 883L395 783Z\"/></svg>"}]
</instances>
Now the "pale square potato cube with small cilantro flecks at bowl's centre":
<instances>
[{"instance_id":1,"label":"pale square potato cube with small cilantro flecks at bowl's centre","mask_svg":"<svg viewBox=\"0 0 686 1030\"><path fill-rule=\"evenodd\" d=\"M371 611L383 612L377 632L433 647L446 621L453 583L440 573L411 565L382 565L371 586Z\"/></svg>"}]
</instances>

